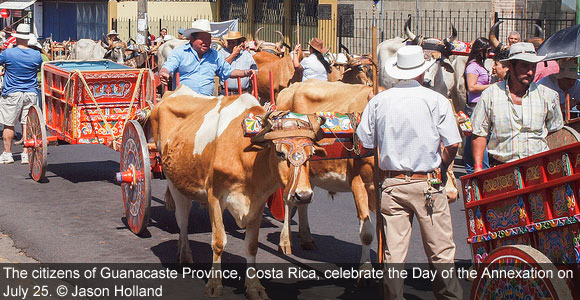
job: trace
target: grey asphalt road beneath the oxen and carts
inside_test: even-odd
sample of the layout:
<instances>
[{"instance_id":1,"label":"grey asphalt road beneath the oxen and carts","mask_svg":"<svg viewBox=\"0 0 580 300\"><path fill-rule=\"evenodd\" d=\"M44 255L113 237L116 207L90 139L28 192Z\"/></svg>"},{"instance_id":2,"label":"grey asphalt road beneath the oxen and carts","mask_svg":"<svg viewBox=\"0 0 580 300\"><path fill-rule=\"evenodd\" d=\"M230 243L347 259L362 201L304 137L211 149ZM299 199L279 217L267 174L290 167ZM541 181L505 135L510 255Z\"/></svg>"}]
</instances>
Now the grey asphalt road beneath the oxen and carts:
<instances>
[{"instance_id":1,"label":"grey asphalt road beneath the oxen and carts","mask_svg":"<svg viewBox=\"0 0 580 300\"><path fill-rule=\"evenodd\" d=\"M152 182L151 223L144 237L131 233L124 222L120 186L114 182L119 170L119 153L100 145L63 145L48 149L48 182L37 183L28 166L19 161L20 147L14 149L16 163L0 165L0 230L14 240L15 247L43 263L175 263L178 227L172 212L165 209L163 195L166 183ZM462 175L461 168L456 174ZM465 238L467 227L460 200L451 205L457 245L456 261L469 262L471 254ZM352 195L339 193L331 200L324 190L315 189L309 209L310 226L318 250L299 248L293 235L293 255L277 250L282 224L269 212L262 222L258 262L291 263L302 267L316 263L358 263L361 253L358 220ZM295 217L297 219L297 216ZM223 262L244 262L244 230L233 219L224 217L228 243ZM414 223L407 262L425 263L418 224ZM294 223L293 230L297 231ZM190 214L189 240L195 262L210 262L211 227L207 209L194 203ZM376 241L372 259L376 261ZM428 285L406 282L407 299L430 299ZM464 293L469 283L462 280ZM268 287L276 299L277 288ZM323 284L294 287L288 299L312 299L321 290L332 289L328 299L355 299L358 290L352 285L328 287ZM311 294L314 293L314 294ZM376 289L367 289L376 295ZM224 296L243 298L243 289L224 288ZM288 296L288 294L280 294ZM366 295L366 294L365 294ZM365 298L368 298L368 295ZM280 297L284 298L284 297ZM315 297L316 298L316 297ZM372 297L371 297L372 298ZM229 299L229 298L228 298Z\"/></svg>"}]
</instances>

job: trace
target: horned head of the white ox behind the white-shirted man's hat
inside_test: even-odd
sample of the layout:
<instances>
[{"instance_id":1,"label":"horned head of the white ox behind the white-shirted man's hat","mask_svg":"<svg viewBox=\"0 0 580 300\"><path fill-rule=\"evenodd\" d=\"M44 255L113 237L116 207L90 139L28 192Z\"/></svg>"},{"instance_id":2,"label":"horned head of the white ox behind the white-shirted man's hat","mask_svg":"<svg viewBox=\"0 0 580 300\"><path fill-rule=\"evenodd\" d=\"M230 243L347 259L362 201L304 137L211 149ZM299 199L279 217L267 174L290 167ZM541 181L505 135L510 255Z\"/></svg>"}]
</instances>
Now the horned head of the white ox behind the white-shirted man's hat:
<instances>
[{"instance_id":1,"label":"horned head of the white ox behind the white-shirted man's hat","mask_svg":"<svg viewBox=\"0 0 580 300\"><path fill-rule=\"evenodd\" d=\"M423 84L429 88L433 88L435 86L435 78L438 77L441 72L441 68L445 68L445 70L449 73L453 73L453 66L451 65L451 61L449 61L449 56L451 56L451 43L457 39L457 29L453 23L451 23L451 35L443 40L437 38L427 38L421 35L416 35L410 29L411 25L411 15L407 18L405 22L405 34L407 38L411 40L411 44L419 45L423 48L423 52L425 53L425 60L432 60L435 59L436 63L433 64L426 72L425 72L425 79Z\"/></svg>"}]
</instances>

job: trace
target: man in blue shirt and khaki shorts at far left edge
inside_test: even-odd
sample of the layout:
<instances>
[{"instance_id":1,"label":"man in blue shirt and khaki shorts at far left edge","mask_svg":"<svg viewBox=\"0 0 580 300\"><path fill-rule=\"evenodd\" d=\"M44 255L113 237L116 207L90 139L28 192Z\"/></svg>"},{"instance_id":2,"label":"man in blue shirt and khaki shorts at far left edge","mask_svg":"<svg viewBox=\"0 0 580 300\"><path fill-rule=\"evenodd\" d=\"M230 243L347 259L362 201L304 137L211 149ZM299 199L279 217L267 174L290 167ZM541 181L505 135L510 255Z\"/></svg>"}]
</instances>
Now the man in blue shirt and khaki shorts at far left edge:
<instances>
[{"instance_id":1,"label":"man in blue shirt and khaki shorts at far left edge","mask_svg":"<svg viewBox=\"0 0 580 300\"><path fill-rule=\"evenodd\" d=\"M26 116L28 110L36 103L37 73L42 65L40 52L28 48L30 25L20 24L16 33L16 46L0 53L0 65L4 65L4 87L0 99L0 123L4 124L2 139L4 152L0 155L0 164L11 164L14 126L20 121L23 136L26 136ZM26 152L21 154L21 162L28 163Z\"/></svg>"}]
</instances>

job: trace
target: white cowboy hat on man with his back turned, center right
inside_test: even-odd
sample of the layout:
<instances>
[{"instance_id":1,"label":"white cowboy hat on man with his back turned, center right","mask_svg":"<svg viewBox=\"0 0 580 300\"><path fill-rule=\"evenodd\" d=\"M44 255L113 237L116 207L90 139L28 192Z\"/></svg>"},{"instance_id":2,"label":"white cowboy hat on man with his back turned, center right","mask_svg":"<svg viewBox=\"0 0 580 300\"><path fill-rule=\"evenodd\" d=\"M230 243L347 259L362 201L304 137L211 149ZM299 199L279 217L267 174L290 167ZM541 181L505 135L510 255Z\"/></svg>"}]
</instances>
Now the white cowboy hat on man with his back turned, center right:
<instances>
[{"instance_id":1,"label":"white cowboy hat on man with his back turned, center right","mask_svg":"<svg viewBox=\"0 0 580 300\"><path fill-rule=\"evenodd\" d=\"M387 60L385 71L395 79L411 79L423 74L434 63L434 59L425 61L421 46L403 46L397 50L397 55Z\"/></svg>"}]
</instances>

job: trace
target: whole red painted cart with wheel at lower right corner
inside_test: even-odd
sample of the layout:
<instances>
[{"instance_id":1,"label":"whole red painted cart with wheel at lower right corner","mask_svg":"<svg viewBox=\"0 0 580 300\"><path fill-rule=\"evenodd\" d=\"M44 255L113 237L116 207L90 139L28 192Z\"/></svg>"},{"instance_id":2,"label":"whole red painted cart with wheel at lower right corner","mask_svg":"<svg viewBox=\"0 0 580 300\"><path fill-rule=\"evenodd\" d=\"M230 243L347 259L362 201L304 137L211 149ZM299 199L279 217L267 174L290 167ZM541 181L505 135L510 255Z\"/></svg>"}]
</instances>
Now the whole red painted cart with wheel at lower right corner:
<instances>
[{"instance_id":1,"label":"whole red painted cart with wheel at lower right corner","mask_svg":"<svg viewBox=\"0 0 580 300\"><path fill-rule=\"evenodd\" d=\"M461 182L472 299L580 299L580 143Z\"/></svg>"}]
</instances>

